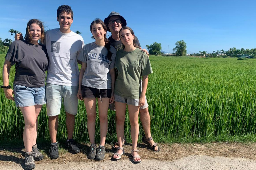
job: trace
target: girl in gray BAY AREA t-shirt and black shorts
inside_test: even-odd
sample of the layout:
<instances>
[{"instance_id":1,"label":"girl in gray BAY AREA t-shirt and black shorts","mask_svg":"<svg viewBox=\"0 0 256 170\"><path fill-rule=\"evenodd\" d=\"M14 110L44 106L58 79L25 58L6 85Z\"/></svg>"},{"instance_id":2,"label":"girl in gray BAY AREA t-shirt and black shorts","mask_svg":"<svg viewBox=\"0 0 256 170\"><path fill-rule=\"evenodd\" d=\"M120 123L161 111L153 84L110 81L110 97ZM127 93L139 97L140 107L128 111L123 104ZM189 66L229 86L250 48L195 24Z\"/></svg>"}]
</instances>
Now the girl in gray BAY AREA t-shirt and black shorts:
<instances>
[{"instance_id":1,"label":"girl in gray BAY AREA t-shirt and black shorts","mask_svg":"<svg viewBox=\"0 0 256 170\"><path fill-rule=\"evenodd\" d=\"M82 61L77 97L84 101L90 138L89 159L105 158L105 140L108 130L108 106L114 102L116 49L106 38L107 27L100 19L91 23L95 42L86 44L78 56ZM98 99L96 99L98 98ZM96 100L100 118L100 145L95 144Z\"/></svg>"}]
</instances>

